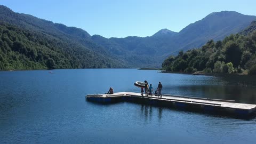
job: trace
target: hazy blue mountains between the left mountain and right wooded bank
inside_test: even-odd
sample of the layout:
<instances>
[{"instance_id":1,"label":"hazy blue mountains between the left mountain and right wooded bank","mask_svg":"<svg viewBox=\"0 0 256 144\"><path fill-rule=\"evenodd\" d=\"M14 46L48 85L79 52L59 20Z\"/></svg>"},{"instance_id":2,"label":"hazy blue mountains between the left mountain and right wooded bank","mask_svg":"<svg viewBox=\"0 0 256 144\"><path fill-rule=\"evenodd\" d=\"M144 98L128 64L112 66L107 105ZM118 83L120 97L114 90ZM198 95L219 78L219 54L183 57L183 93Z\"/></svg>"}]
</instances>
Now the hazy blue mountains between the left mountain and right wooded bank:
<instances>
[{"instance_id":1,"label":"hazy blue mountains between the left mountain and right wooded bank","mask_svg":"<svg viewBox=\"0 0 256 144\"><path fill-rule=\"evenodd\" d=\"M236 34L256 20L255 16L233 11L213 12L202 20L191 23L179 33L159 30L150 37L103 38L92 36L95 43L118 53L123 60L137 67L160 67L164 59L179 51L201 47L210 39L221 40ZM128 55L127 55L128 54ZM135 59L135 60L134 60Z\"/></svg>"}]
</instances>

